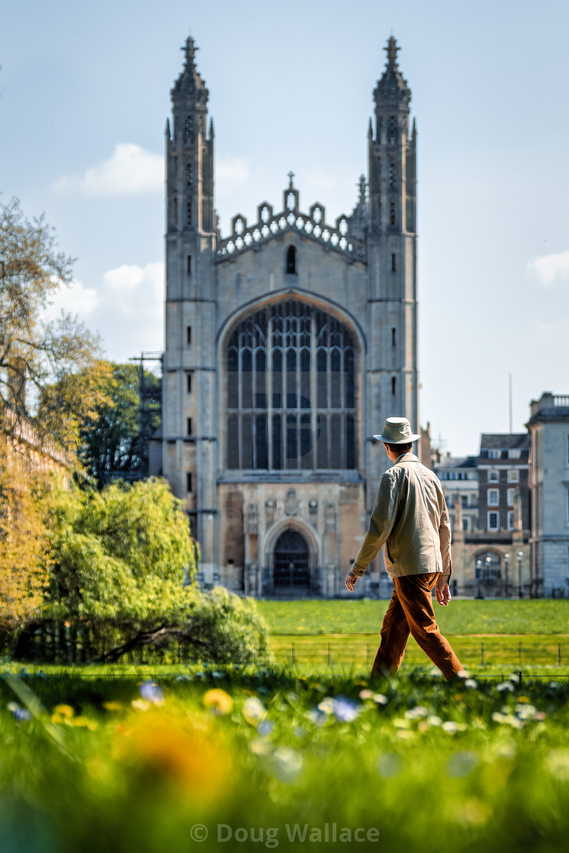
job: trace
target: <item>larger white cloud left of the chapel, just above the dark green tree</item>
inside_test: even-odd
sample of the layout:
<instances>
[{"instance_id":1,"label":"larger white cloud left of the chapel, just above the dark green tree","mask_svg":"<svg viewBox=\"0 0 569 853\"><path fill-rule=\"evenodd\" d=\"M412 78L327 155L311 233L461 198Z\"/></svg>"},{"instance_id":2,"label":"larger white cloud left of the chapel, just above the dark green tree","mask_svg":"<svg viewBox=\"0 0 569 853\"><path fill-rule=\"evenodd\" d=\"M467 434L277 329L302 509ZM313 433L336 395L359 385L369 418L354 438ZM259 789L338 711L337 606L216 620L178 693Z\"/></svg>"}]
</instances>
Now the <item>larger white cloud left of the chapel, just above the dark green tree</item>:
<instances>
[{"instance_id":1,"label":"larger white cloud left of the chapel, just above the dark green tree","mask_svg":"<svg viewBox=\"0 0 569 853\"><path fill-rule=\"evenodd\" d=\"M61 310L77 314L102 335L108 358L126 361L141 350L164 346L164 264L123 264L107 270L95 287L76 281L58 294L49 318Z\"/></svg>"}]
</instances>

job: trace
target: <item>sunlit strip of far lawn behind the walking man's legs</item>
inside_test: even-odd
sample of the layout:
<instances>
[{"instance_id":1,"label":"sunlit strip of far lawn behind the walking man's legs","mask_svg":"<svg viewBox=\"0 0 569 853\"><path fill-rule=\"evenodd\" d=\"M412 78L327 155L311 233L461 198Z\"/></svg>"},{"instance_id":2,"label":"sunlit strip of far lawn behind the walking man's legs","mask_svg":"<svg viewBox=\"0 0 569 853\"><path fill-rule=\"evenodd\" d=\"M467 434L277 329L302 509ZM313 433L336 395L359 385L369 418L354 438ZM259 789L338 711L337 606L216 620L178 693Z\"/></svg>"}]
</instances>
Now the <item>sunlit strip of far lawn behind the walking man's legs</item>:
<instances>
[{"instance_id":1,"label":"sunlit strip of far lawn behind the walking man's legs","mask_svg":"<svg viewBox=\"0 0 569 853\"><path fill-rule=\"evenodd\" d=\"M387 601L258 601L275 634L376 634ZM451 601L434 604L440 630L458 634L569 634L569 600Z\"/></svg>"}]
</instances>

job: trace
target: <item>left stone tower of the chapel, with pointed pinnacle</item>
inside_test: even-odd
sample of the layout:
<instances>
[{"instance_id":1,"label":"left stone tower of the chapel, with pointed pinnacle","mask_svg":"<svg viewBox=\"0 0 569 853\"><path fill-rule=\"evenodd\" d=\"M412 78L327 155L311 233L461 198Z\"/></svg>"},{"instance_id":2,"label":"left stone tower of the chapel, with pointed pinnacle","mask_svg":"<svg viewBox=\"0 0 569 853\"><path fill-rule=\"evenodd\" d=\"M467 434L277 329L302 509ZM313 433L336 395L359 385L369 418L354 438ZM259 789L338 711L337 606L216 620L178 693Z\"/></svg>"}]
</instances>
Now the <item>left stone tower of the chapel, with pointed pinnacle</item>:
<instances>
[{"instance_id":1,"label":"left stone tower of the chapel, with pointed pinnacle","mask_svg":"<svg viewBox=\"0 0 569 853\"><path fill-rule=\"evenodd\" d=\"M216 247L213 210L213 125L209 95L195 67L196 47L183 47L183 71L171 90L173 126L166 122L165 360L162 470L187 500L202 554L213 537L215 367L211 330ZM209 543L209 547L208 547Z\"/></svg>"}]
</instances>

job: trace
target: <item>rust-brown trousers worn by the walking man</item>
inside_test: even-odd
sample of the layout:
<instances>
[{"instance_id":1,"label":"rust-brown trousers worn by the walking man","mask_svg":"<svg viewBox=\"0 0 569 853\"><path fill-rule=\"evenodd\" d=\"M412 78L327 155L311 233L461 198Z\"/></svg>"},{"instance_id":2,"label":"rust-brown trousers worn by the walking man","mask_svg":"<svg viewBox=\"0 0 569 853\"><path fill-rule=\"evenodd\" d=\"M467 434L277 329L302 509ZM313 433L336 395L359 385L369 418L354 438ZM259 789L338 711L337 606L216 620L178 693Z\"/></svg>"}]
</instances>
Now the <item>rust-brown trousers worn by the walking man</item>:
<instances>
[{"instance_id":1,"label":"rust-brown trousers worn by the walking man","mask_svg":"<svg viewBox=\"0 0 569 853\"><path fill-rule=\"evenodd\" d=\"M431 592L437 572L393 577L392 600L381 626L380 647L375 655L372 676L397 672L403 660L409 634L441 670L448 682L462 671L462 664L438 630Z\"/></svg>"}]
</instances>

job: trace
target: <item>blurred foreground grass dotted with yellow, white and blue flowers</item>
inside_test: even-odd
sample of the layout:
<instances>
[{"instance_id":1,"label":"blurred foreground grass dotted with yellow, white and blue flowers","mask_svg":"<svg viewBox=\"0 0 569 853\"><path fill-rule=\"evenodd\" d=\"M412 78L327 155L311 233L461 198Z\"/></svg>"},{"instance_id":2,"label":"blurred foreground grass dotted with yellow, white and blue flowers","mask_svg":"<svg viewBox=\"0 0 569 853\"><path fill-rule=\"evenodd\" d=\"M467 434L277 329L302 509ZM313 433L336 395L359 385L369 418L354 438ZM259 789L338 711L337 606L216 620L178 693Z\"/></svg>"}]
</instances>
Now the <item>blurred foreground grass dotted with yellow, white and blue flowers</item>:
<instances>
[{"instance_id":1,"label":"blurred foreground grass dotted with yellow, white and blue flowers","mask_svg":"<svg viewBox=\"0 0 569 853\"><path fill-rule=\"evenodd\" d=\"M1 850L566 849L566 682L89 671L0 679Z\"/></svg>"}]
</instances>

